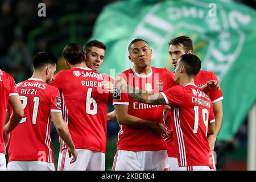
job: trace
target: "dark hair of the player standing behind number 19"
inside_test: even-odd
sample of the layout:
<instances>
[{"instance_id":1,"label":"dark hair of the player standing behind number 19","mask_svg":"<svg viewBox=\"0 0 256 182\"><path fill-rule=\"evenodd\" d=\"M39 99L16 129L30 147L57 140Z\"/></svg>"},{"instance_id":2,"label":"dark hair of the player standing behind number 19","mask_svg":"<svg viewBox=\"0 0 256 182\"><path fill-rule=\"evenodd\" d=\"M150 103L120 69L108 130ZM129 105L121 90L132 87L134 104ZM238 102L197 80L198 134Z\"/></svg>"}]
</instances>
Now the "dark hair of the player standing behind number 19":
<instances>
[{"instance_id":1,"label":"dark hair of the player standing behind number 19","mask_svg":"<svg viewBox=\"0 0 256 182\"><path fill-rule=\"evenodd\" d=\"M183 46L185 52L188 52L189 50L193 51L193 42L189 36L177 36L169 42L169 46L181 46L180 44Z\"/></svg>"}]
</instances>

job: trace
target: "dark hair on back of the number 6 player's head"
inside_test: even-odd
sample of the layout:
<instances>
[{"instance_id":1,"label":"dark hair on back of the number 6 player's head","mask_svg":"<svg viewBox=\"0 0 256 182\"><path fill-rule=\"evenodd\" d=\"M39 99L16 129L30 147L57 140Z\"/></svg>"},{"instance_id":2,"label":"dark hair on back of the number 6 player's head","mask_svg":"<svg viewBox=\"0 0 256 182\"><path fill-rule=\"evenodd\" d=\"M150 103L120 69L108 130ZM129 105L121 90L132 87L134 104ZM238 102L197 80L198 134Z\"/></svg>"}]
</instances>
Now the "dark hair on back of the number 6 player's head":
<instances>
[{"instance_id":1,"label":"dark hair on back of the number 6 player's head","mask_svg":"<svg viewBox=\"0 0 256 182\"><path fill-rule=\"evenodd\" d=\"M68 63L75 65L80 64L85 60L82 46L77 43L70 43L64 49L62 53L64 60Z\"/></svg>"}]
</instances>

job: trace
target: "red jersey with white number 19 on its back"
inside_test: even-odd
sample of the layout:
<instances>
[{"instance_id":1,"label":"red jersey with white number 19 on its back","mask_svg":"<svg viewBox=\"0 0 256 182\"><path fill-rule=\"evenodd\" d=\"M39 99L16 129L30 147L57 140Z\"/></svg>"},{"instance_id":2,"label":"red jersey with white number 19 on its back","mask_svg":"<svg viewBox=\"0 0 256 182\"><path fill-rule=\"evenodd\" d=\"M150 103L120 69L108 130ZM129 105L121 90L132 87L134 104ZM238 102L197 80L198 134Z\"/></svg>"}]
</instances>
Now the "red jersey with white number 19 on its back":
<instances>
[{"instance_id":1,"label":"red jersey with white number 19 on its back","mask_svg":"<svg viewBox=\"0 0 256 182\"><path fill-rule=\"evenodd\" d=\"M213 168L207 139L208 124L215 121L210 98L193 84L174 86L162 94L173 113L179 166Z\"/></svg>"}]
</instances>

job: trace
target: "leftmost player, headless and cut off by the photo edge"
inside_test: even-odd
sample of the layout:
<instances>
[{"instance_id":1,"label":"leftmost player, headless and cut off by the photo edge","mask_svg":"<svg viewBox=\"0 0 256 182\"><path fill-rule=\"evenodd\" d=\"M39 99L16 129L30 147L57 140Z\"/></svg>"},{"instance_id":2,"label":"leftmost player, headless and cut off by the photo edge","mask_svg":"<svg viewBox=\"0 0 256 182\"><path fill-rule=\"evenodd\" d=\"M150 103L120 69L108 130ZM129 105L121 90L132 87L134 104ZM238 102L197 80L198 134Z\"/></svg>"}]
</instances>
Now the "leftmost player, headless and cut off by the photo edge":
<instances>
[{"instance_id":1,"label":"leftmost player, headless and cut off by the photo edge","mask_svg":"<svg viewBox=\"0 0 256 182\"><path fill-rule=\"evenodd\" d=\"M0 171L6 170L5 146L9 141L10 132L23 118L22 103L15 88L13 77L0 69ZM10 121L5 125L8 104L13 109ZM5 126L4 126L5 125Z\"/></svg>"}]
</instances>

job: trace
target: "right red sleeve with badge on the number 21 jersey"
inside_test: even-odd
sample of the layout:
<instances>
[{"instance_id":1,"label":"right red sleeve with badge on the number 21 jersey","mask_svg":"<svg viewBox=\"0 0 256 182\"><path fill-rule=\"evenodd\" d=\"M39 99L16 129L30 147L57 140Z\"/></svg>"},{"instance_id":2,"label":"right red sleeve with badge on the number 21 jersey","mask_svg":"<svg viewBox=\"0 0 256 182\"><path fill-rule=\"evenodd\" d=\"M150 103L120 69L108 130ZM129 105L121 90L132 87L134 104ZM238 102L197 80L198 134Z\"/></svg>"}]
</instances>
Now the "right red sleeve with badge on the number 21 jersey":
<instances>
[{"instance_id":1,"label":"right red sleeve with badge on the number 21 jersey","mask_svg":"<svg viewBox=\"0 0 256 182\"><path fill-rule=\"evenodd\" d=\"M56 87L51 92L51 112L62 113L60 92Z\"/></svg>"}]
</instances>

